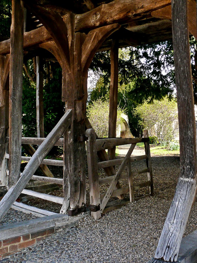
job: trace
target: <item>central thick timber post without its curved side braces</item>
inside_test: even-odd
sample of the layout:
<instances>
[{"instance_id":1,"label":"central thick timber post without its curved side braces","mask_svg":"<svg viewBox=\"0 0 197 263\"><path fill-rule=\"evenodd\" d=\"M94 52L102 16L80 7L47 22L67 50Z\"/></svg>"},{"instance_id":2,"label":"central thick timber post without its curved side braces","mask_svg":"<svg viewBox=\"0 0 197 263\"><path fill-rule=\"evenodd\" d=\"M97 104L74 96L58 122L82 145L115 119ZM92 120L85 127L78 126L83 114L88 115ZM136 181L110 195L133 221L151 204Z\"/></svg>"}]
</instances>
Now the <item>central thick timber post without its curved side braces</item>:
<instances>
[{"instance_id":1,"label":"central thick timber post without its curved side braces","mask_svg":"<svg viewBox=\"0 0 197 263\"><path fill-rule=\"evenodd\" d=\"M63 68L62 99L66 109L72 109L72 124L64 134L64 204L61 213L81 212L86 204L85 124L87 74L82 76L81 50L85 34L74 32L74 14L68 15L70 72Z\"/></svg>"}]
</instances>

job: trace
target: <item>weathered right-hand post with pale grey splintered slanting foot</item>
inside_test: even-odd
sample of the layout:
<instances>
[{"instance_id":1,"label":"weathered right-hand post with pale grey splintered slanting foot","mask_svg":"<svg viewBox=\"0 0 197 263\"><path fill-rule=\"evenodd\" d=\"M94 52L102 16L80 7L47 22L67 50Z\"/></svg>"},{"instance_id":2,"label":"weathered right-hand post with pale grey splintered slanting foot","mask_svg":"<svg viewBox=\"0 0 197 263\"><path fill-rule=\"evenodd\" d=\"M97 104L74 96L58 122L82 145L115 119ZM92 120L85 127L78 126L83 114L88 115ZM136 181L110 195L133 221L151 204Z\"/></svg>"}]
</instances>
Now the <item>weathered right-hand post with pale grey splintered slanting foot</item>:
<instances>
[{"instance_id":1,"label":"weathered right-hand post with pale grey splintered slanting foot","mask_svg":"<svg viewBox=\"0 0 197 263\"><path fill-rule=\"evenodd\" d=\"M176 261L196 195L196 131L188 32L187 0L172 1L172 29L177 87L180 176L155 258Z\"/></svg>"}]
</instances>

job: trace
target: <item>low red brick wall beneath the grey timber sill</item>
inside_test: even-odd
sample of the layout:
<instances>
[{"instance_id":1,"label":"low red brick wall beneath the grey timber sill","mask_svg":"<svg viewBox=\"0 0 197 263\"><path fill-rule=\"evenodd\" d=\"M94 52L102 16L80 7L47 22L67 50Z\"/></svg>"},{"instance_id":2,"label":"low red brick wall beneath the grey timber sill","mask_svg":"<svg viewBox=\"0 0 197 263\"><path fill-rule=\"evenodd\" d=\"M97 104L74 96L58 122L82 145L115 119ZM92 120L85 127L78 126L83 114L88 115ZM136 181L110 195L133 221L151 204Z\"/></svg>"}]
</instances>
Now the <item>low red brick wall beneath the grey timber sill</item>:
<instances>
[{"instance_id":1,"label":"low red brick wall beneath the grey timber sill","mask_svg":"<svg viewBox=\"0 0 197 263\"><path fill-rule=\"evenodd\" d=\"M0 240L0 259L14 254L25 247L33 246L36 242L57 232L54 227L35 233Z\"/></svg>"}]
</instances>

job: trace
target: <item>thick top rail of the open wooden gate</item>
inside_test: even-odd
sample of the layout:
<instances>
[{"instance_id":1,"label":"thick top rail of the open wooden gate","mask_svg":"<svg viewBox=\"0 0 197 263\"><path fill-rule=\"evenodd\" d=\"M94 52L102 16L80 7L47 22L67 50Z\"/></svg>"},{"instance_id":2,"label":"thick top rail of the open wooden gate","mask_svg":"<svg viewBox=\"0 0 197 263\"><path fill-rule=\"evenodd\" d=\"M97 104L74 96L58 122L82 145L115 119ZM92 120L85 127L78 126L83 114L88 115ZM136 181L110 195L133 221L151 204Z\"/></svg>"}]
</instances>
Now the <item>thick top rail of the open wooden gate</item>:
<instances>
[{"instance_id":1,"label":"thick top rail of the open wooden gate","mask_svg":"<svg viewBox=\"0 0 197 263\"><path fill-rule=\"evenodd\" d=\"M131 143L141 143L148 141L148 138L104 138L96 140L96 149L97 151L111 149L117 145L131 144Z\"/></svg>"}]
</instances>

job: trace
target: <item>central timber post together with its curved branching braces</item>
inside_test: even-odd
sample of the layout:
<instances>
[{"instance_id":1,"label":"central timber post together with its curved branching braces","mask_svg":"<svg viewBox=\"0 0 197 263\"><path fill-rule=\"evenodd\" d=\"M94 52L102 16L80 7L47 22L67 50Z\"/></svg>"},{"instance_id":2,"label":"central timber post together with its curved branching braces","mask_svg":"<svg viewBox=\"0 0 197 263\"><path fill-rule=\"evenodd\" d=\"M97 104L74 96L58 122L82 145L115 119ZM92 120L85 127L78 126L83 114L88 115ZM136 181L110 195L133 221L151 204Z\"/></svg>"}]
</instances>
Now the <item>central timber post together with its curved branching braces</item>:
<instances>
[{"instance_id":1,"label":"central timber post together with its curved branching braces","mask_svg":"<svg viewBox=\"0 0 197 263\"><path fill-rule=\"evenodd\" d=\"M64 134L64 203L60 213L81 212L86 204L85 135L87 71L102 43L121 26L112 24L91 30L87 35L75 32L73 13L61 17L58 12L27 3L48 30L52 41L39 46L49 50L62 67L62 100L73 109L71 127Z\"/></svg>"}]
</instances>

